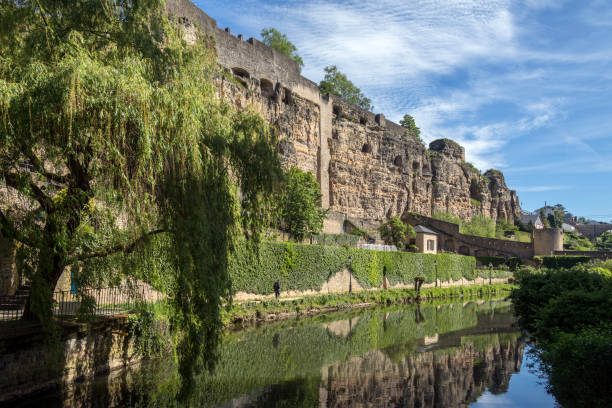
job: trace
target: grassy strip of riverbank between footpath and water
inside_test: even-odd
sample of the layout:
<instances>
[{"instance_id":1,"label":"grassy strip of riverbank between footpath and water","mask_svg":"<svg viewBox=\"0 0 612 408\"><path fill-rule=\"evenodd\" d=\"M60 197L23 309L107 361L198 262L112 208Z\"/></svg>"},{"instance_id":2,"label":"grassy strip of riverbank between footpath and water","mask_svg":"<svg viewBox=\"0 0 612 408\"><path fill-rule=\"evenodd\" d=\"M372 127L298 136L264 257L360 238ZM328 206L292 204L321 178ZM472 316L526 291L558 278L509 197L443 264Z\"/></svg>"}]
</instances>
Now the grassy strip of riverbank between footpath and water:
<instances>
[{"instance_id":1,"label":"grassy strip of riverbank between footpath and water","mask_svg":"<svg viewBox=\"0 0 612 408\"><path fill-rule=\"evenodd\" d=\"M237 328L258 322L268 322L299 316L346 309L360 309L381 305L406 304L434 299L472 298L509 295L514 286L507 283L492 285L451 286L444 288L422 288L419 294L414 289L387 289L360 291L355 293L323 294L297 299L261 300L234 303L222 314L227 328Z\"/></svg>"}]
</instances>

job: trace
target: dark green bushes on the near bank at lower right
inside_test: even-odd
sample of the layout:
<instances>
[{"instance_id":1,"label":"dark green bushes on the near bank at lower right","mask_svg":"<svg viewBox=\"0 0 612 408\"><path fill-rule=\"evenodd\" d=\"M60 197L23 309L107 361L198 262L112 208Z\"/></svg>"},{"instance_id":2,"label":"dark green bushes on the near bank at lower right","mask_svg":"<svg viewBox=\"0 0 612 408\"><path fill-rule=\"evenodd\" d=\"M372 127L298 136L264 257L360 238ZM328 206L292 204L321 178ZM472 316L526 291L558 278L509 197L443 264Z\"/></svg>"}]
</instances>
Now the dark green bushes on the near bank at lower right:
<instances>
[{"instance_id":1,"label":"dark green bushes on the near bank at lower right","mask_svg":"<svg viewBox=\"0 0 612 408\"><path fill-rule=\"evenodd\" d=\"M539 345L549 389L567 407L612 400L612 263L520 271L511 298L521 326Z\"/></svg>"}]
</instances>

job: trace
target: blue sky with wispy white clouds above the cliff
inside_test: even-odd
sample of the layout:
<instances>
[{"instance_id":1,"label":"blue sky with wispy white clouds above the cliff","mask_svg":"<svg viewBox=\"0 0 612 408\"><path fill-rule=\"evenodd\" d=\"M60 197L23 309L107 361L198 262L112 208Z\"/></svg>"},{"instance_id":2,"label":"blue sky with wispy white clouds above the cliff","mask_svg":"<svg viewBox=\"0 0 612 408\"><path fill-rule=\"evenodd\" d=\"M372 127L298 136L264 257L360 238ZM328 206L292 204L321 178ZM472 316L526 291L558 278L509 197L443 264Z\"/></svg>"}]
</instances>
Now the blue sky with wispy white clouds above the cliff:
<instances>
[{"instance_id":1,"label":"blue sky with wispy white clouds above the cliff","mask_svg":"<svg viewBox=\"0 0 612 408\"><path fill-rule=\"evenodd\" d=\"M287 34L319 82L337 65L376 113L415 117L524 209L612 220L612 1L194 1L219 27Z\"/></svg>"}]
</instances>

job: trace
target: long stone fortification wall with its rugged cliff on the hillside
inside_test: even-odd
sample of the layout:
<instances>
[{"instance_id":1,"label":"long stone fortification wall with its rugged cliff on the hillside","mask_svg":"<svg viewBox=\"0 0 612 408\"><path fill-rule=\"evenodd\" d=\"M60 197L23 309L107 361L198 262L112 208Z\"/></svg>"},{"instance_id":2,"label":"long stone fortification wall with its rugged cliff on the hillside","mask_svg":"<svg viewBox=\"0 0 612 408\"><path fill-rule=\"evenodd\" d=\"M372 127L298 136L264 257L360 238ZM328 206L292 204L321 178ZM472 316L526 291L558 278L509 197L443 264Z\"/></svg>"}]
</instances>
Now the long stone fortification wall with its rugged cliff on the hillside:
<instances>
[{"instance_id":1,"label":"long stone fortification wall with its rugged cliff on the hillside","mask_svg":"<svg viewBox=\"0 0 612 408\"><path fill-rule=\"evenodd\" d=\"M519 217L516 192L507 188L503 175L474 173L455 142L434 141L428 151L384 115L321 95L294 61L256 39L244 41L218 28L190 1L170 0L167 6L174 18L213 36L219 63L247 85L230 99L239 107L262 107L273 126L282 122L283 161L317 176L325 208L376 223L405 211L444 211L463 219L480 213ZM294 102L300 109L282 106Z\"/></svg>"}]
</instances>

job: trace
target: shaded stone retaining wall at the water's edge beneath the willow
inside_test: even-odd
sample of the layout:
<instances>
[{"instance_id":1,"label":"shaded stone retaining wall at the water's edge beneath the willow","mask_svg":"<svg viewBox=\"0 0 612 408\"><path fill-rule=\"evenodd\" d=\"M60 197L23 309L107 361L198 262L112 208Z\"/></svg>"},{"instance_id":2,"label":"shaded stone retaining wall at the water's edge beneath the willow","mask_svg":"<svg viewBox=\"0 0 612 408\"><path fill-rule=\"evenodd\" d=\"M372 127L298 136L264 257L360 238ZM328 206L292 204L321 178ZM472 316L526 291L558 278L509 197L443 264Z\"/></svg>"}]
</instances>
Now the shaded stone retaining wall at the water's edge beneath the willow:
<instances>
[{"instance_id":1,"label":"shaded stone retaining wall at the water's edge beneath the willow","mask_svg":"<svg viewBox=\"0 0 612 408\"><path fill-rule=\"evenodd\" d=\"M125 316L93 325L65 325L59 347L46 342L40 326L4 329L0 335L0 403L92 379L138 361Z\"/></svg>"}]
</instances>

